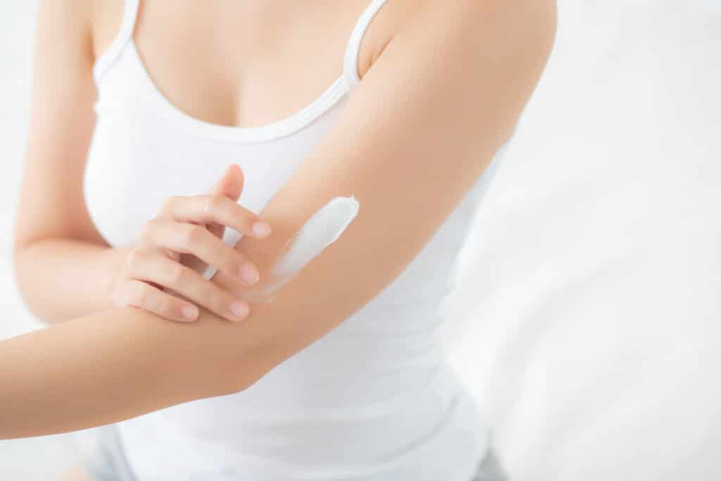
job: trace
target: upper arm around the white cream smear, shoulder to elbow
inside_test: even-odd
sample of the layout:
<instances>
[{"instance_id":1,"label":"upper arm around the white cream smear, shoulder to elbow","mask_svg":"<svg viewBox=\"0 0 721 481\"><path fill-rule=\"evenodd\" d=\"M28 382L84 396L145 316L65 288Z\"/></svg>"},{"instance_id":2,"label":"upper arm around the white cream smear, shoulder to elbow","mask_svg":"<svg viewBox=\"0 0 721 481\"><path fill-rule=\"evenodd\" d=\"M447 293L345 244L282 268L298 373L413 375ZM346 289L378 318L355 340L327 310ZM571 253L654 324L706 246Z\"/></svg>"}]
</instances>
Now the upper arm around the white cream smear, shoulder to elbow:
<instances>
[{"instance_id":1,"label":"upper arm around the white cream smear, shoulder to elbow","mask_svg":"<svg viewBox=\"0 0 721 481\"><path fill-rule=\"evenodd\" d=\"M395 35L335 131L260 214L287 239L332 198L360 203L337 242L272 304L254 305L232 336L240 386L340 325L402 273L516 128L555 30L554 1L432 0ZM236 247L275 260L269 245L243 237ZM247 289L224 273L216 281Z\"/></svg>"}]
</instances>

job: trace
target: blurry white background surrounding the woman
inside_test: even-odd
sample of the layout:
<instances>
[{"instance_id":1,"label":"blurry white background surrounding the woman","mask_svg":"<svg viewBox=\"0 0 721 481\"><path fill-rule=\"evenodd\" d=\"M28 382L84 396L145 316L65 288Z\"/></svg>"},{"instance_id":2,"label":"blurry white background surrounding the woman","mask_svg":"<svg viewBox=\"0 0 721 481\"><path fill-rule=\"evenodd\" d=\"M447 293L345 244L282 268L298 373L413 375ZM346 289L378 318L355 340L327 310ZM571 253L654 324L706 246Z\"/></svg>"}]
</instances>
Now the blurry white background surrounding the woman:
<instances>
[{"instance_id":1,"label":"blurry white background surrounding the woman","mask_svg":"<svg viewBox=\"0 0 721 481\"><path fill-rule=\"evenodd\" d=\"M0 337L37 327L9 257L35 8L0 0ZM463 252L449 350L513 480L719 480L721 1L559 15ZM0 479L56 480L72 457L67 436L0 441Z\"/></svg>"}]
</instances>

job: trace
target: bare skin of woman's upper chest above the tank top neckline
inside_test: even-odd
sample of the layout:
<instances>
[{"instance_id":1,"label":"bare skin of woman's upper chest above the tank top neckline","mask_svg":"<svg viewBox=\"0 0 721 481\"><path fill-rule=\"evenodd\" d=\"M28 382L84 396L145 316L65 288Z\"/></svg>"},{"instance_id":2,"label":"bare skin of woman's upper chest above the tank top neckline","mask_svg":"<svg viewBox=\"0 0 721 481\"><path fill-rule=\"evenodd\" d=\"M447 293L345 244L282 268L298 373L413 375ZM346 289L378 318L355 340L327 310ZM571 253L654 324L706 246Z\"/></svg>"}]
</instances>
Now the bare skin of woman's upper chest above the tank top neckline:
<instances>
[{"instance_id":1,"label":"bare skin of woman's upper chest above the tank top neckline","mask_svg":"<svg viewBox=\"0 0 721 481\"><path fill-rule=\"evenodd\" d=\"M148 0L139 3L131 37L156 87L182 112L218 125L264 125L308 105L337 79L369 3L179 0L169 9ZM402 17L389 11L364 35L361 76L399 28ZM120 17L109 13L94 25L96 56L107 51Z\"/></svg>"}]
</instances>

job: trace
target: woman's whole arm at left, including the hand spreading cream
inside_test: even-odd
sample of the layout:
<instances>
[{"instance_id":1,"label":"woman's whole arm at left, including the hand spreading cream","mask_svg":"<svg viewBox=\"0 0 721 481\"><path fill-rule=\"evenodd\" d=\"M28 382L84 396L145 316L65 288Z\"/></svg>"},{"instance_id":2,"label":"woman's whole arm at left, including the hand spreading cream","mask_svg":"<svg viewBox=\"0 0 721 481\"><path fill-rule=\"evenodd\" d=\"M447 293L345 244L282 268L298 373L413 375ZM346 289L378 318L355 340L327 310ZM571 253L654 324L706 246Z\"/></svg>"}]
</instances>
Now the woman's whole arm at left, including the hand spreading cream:
<instances>
[{"instance_id":1,"label":"woman's whole arm at left, including the hand spreading cream","mask_svg":"<svg viewBox=\"0 0 721 481\"><path fill-rule=\"evenodd\" d=\"M123 13L123 1L102 1L102 16L94 14L95 3L40 4L14 228L19 291L30 311L51 324L114 306L138 306L177 321L195 319L198 306L205 306L240 320L244 303L200 275L208 264L236 278L252 274L252 262L221 240L226 226L259 235L252 231L257 215L237 203L243 183L237 166L208 195L169 198L131 247L109 246L89 218L83 177L95 123L92 68L113 38L104 32L117 30L105 23L119 22Z\"/></svg>"}]
</instances>

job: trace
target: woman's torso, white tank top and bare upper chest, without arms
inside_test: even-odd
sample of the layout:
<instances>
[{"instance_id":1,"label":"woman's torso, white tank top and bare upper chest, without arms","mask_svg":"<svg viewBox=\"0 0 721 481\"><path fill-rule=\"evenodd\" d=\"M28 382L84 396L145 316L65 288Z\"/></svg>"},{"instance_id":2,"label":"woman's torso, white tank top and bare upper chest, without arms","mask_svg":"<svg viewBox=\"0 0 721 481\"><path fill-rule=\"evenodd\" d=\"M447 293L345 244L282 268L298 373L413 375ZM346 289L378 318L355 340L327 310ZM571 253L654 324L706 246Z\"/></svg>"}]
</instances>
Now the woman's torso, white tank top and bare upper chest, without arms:
<instances>
[{"instance_id":1,"label":"woman's torso, white tank top and bare upper chest, without arms","mask_svg":"<svg viewBox=\"0 0 721 481\"><path fill-rule=\"evenodd\" d=\"M204 193L231 162L245 175L239 203L260 211L416 8L407 0L112 5L97 20L97 124L84 194L113 247L133 244L170 195ZM328 335L244 392L120 423L138 478L469 479L486 438L445 361L438 307L499 158L408 268ZM225 242L237 239L226 231Z\"/></svg>"}]
</instances>

